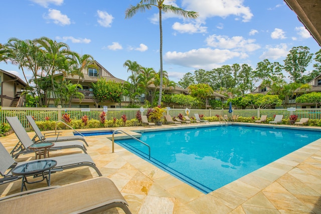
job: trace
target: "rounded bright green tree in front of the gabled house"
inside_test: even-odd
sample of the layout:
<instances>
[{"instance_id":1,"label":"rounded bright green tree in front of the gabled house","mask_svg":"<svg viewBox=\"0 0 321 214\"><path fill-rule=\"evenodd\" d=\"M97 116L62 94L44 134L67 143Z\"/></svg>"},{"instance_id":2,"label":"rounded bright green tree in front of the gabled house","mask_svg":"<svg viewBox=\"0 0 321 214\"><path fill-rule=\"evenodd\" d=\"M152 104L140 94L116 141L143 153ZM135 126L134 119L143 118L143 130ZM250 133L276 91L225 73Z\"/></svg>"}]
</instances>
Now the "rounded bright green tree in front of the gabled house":
<instances>
[{"instance_id":1,"label":"rounded bright green tree in front of the gabled house","mask_svg":"<svg viewBox=\"0 0 321 214\"><path fill-rule=\"evenodd\" d=\"M104 78L98 79L97 83L92 85L93 93L98 102L111 101L121 102L123 89L121 83L115 81L106 81Z\"/></svg>"}]
</instances>

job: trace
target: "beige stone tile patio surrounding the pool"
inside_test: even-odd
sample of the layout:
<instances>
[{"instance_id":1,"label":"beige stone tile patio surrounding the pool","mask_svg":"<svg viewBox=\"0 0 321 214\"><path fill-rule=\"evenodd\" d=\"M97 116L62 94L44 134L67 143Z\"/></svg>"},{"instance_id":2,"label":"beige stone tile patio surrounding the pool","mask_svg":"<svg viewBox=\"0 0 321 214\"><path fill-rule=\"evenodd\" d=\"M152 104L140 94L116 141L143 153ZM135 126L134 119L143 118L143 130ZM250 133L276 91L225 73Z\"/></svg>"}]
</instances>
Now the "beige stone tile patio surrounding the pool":
<instances>
[{"instance_id":1,"label":"beige stone tile patio surrounding the pool","mask_svg":"<svg viewBox=\"0 0 321 214\"><path fill-rule=\"evenodd\" d=\"M219 123L210 125L213 124ZM186 125L163 125L161 128L182 127ZM120 129L129 132L155 128ZM29 135L32 137L34 133ZM63 135L72 135L72 130L64 130ZM204 194L117 144L112 153L112 142L105 135L85 138L89 143L88 154L103 176L114 181L132 213L321 213L321 139ZM11 134L0 138L0 141L11 151L18 139ZM50 155L77 152L79 149L65 149L52 151ZM26 154L17 161L32 159L35 159L34 154ZM65 185L96 176L97 173L88 167L69 169L52 174L51 184ZM43 186L46 182L28 185L29 188ZM20 187L21 180L0 185L0 194L5 196L19 192ZM114 208L104 213L118 212L122 213L122 210Z\"/></svg>"}]
</instances>

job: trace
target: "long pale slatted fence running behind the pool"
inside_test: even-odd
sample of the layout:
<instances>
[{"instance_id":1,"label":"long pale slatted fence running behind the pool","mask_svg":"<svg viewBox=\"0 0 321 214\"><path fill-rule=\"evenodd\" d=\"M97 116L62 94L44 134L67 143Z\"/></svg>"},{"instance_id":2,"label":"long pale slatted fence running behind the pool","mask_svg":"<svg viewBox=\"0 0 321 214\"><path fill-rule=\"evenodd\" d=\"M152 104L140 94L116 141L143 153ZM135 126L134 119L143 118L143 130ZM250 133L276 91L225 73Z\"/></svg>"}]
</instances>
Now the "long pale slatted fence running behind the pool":
<instances>
[{"instance_id":1,"label":"long pale slatted fence running behind the pool","mask_svg":"<svg viewBox=\"0 0 321 214\"><path fill-rule=\"evenodd\" d=\"M146 114L148 109L143 109L141 114ZM178 116L180 113L186 115L186 109L171 109L168 113L172 116ZM106 120L112 120L113 118L121 119L122 115L126 115L127 120L131 120L136 117L137 108L108 108L106 112ZM7 116L17 116L23 123L24 127L29 127L29 124L25 118L26 115L32 115L36 121L45 121L46 117L50 120L58 121L62 120L62 115L67 113L72 120L80 120L82 116L87 115L88 119L100 119L100 114L103 112L103 108L15 108L15 107L3 107L0 111L0 122L4 123ZM260 117L261 115L267 115L273 117L276 114L282 114L283 118L288 118L290 115L295 114L300 118L309 119L321 119L321 109L295 109L290 112L287 109L233 109L232 113L228 112L228 109L190 109L190 116L194 116L194 113L203 114L204 116L216 116L216 115L239 115L242 117Z\"/></svg>"}]
</instances>

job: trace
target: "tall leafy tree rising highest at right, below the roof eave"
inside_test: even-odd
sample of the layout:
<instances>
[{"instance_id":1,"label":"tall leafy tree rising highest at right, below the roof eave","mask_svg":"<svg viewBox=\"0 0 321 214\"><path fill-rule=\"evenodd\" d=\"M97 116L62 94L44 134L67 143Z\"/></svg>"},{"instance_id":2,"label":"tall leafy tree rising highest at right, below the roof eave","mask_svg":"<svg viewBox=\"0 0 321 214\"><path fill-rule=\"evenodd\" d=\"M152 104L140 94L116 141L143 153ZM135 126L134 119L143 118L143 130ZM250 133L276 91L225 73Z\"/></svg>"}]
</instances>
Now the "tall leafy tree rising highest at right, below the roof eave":
<instances>
[{"instance_id":1,"label":"tall leafy tree rising highest at right, below the roof eave","mask_svg":"<svg viewBox=\"0 0 321 214\"><path fill-rule=\"evenodd\" d=\"M308 47L293 47L284 60L284 70L290 74L293 82L302 82L302 75L306 67L311 63L313 54Z\"/></svg>"}]
</instances>

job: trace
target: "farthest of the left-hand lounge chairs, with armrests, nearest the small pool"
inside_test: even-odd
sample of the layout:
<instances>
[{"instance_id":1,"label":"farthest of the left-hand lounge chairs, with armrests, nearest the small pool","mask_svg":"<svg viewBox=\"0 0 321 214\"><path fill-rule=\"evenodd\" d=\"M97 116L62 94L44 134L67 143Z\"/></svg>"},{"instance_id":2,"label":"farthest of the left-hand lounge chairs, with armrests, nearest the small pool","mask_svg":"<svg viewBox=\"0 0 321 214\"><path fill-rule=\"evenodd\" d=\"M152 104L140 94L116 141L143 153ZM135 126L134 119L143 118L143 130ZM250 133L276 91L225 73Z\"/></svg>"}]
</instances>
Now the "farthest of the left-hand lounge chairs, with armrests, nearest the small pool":
<instances>
[{"instance_id":1,"label":"farthest of the left-hand lounge chairs, with armrests, nearest the small pool","mask_svg":"<svg viewBox=\"0 0 321 214\"><path fill-rule=\"evenodd\" d=\"M48 133L41 133L39 127L37 126L34 118L31 115L26 116L29 124L34 129L36 135L32 138L34 142L57 142L57 141L73 141L73 140L82 140L88 146L85 138L83 136L59 136L59 132L48 132ZM47 137L53 136L56 137ZM36 140L38 138L38 140Z\"/></svg>"}]
</instances>

